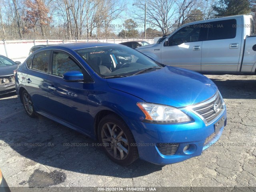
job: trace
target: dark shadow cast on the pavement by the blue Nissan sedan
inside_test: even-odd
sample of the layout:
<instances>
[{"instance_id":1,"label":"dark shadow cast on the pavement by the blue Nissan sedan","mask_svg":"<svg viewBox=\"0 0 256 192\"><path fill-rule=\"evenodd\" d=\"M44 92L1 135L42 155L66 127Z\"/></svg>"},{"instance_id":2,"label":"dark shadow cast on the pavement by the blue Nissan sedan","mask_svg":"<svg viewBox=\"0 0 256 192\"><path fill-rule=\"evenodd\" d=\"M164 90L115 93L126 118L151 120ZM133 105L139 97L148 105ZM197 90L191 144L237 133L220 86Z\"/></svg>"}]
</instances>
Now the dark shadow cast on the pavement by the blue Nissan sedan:
<instances>
[{"instance_id":1,"label":"dark shadow cast on the pavement by the blue Nissan sedan","mask_svg":"<svg viewBox=\"0 0 256 192\"><path fill-rule=\"evenodd\" d=\"M25 166L39 163L72 172L118 178L135 178L162 170L162 166L143 160L127 167L115 164L97 142L87 136L41 115L28 117L19 98L2 99L0 106L6 109L0 117L0 140L26 158Z\"/></svg>"}]
</instances>

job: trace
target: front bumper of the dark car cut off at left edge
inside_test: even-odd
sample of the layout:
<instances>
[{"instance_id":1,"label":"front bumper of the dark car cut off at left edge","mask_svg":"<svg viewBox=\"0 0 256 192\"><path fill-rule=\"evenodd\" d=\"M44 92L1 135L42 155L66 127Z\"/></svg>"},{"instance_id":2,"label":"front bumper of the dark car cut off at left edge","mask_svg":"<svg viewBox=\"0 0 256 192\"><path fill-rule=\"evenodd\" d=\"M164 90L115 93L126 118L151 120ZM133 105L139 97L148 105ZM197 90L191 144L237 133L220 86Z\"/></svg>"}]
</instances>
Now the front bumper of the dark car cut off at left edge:
<instances>
[{"instance_id":1,"label":"front bumper of the dark car cut off at left edge","mask_svg":"<svg viewBox=\"0 0 256 192\"><path fill-rule=\"evenodd\" d=\"M0 95L15 91L14 76L0 77Z\"/></svg>"}]
</instances>

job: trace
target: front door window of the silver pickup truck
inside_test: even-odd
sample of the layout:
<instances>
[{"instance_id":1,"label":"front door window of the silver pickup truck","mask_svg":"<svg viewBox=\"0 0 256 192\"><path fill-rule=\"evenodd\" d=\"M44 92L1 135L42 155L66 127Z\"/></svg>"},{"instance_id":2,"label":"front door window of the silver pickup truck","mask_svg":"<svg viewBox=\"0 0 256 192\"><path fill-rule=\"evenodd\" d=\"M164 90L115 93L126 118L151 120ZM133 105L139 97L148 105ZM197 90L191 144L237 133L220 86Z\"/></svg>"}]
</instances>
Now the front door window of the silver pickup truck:
<instances>
[{"instance_id":1,"label":"front door window of the silver pickup truck","mask_svg":"<svg viewBox=\"0 0 256 192\"><path fill-rule=\"evenodd\" d=\"M197 25L185 26L169 38L169 46L180 45L185 42L200 41L199 35L200 27Z\"/></svg>"}]
</instances>

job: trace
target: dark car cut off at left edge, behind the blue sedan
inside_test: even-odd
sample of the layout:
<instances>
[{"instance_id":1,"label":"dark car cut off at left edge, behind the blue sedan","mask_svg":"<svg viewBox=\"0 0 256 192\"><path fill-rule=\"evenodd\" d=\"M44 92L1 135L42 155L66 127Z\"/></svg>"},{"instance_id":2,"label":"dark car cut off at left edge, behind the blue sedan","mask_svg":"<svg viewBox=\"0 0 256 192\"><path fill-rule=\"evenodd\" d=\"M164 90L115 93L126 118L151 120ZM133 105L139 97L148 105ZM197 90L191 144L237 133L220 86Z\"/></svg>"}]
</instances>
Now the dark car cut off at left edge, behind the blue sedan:
<instances>
[{"instance_id":1,"label":"dark car cut off at left edge, behind the blue sedan","mask_svg":"<svg viewBox=\"0 0 256 192\"><path fill-rule=\"evenodd\" d=\"M14 70L18 64L19 61L0 55L0 95L15 91Z\"/></svg>"}]
</instances>

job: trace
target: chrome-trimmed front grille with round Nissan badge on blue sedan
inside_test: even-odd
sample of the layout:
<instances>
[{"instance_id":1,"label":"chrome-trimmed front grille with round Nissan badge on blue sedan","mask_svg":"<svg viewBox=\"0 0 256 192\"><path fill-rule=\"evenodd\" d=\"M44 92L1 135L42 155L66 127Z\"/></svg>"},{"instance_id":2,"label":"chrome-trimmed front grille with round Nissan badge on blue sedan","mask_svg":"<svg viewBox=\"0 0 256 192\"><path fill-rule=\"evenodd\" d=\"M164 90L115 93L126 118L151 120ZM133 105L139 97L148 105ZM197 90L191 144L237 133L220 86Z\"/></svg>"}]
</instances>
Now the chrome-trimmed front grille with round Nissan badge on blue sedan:
<instances>
[{"instance_id":1,"label":"chrome-trimmed front grille with round Nissan badge on blue sedan","mask_svg":"<svg viewBox=\"0 0 256 192\"><path fill-rule=\"evenodd\" d=\"M217 92L212 98L192 106L192 109L209 123L222 112L222 98L219 92Z\"/></svg>"}]
</instances>

